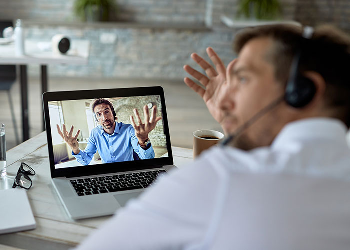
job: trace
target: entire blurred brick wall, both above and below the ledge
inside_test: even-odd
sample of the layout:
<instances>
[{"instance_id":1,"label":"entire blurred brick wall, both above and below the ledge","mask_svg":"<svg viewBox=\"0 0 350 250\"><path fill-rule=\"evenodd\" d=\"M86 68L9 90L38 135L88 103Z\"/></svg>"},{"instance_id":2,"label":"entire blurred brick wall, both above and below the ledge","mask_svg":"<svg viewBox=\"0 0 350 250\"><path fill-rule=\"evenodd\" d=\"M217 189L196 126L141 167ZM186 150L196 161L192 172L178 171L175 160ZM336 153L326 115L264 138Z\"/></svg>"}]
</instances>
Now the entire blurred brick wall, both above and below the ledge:
<instances>
[{"instance_id":1,"label":"entire blurred brick wall, both above and below the ledge","mask_svg":"<svg viewBox=\"0 0 350 250\"><path fill-rule=\"evenodd\" d=\"M211 0L118 0L119 18L140 23L183 24L178 28L94 27L45 24L50 21L71 21L73 0L0 0L1 19L34 19L42 24L26 27L26 37L50 41L57 33L71 39L91 42L88 65L50 65L50 76L88 76L148 79L182 79L184 64L195 65L192 52L206 57L205 49L212 46L227 65L236 55L231 49L237 29L227 28L222 14L234 17L238 0L212 0L212 29L195 29L186 25L203 25L207 2ZM350 33L350 0L280 0L283 18L303 24L334 24ZM115 39L106 43L102 37ZM29 66L29 74L38 75L38 65Z\"/></svg>"}]
</instances>

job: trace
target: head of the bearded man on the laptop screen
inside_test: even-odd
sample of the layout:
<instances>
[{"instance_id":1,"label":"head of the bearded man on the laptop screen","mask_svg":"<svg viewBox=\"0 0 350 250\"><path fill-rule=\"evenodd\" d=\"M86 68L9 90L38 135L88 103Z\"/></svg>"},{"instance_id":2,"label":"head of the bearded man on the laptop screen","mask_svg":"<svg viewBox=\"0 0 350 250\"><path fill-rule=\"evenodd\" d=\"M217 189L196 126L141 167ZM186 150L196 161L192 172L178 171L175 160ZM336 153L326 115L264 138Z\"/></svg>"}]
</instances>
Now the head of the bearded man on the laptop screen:
<instances>
[{"instance_id":1,"label":"head of the bearded man on the laptop screen","mask_svg":"<svg viewBox=\"0 0 350 250\"><path fill-rule=\"evenodd\" d=\"M106 129L113 127L115 120L118 119L113 104L106 99L94 99L91 103L91 111L98 123Z\"/></svg>"}]
</instances>

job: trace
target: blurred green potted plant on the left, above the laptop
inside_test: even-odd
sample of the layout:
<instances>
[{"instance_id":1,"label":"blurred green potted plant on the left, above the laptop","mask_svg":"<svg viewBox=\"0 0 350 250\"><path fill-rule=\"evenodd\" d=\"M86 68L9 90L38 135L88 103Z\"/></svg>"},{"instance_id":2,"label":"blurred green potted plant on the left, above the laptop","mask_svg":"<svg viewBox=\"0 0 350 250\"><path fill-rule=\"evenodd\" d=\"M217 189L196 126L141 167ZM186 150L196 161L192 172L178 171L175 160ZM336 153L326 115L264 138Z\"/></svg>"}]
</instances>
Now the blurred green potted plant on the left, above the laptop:
<instances>
[{"instance_id":1,"label":"blurred green potted plant on the left, above the laptop","mask_svg":"<svg viewBox=\"0 0 350 250\"><path fill-rule=\"evenodd\" d=\"M83 21L108 21L110 11L116 11L115 0L75 0L74 2L74 12Z\"/></svg>"}]
</instances>

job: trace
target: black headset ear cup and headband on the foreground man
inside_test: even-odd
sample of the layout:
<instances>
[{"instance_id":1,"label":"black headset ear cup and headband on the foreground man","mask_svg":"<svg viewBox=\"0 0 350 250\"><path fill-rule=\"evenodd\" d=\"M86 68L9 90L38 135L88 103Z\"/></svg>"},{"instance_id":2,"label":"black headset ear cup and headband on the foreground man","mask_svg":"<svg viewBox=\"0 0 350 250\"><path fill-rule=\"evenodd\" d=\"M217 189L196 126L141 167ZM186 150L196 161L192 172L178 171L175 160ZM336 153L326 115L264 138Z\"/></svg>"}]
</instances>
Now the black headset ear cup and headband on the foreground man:
<instances>
[{"instance_id":1,"label":"black headset ear cup and headband on the foreground man","mask_svg":"<svg viewBox=\"0 0 350 250\"><path fill-rule=\"evenodd\" d=\"M313 81L304 76L299 69L300 58L303 51L308 48L310 38L313 34L313 28L304 27L303 38L296 52L290 67L289 79L285 88L285 102L295 108L301 108L311 102L315 93L316 87Z\"/></svg>"}]
</instances>

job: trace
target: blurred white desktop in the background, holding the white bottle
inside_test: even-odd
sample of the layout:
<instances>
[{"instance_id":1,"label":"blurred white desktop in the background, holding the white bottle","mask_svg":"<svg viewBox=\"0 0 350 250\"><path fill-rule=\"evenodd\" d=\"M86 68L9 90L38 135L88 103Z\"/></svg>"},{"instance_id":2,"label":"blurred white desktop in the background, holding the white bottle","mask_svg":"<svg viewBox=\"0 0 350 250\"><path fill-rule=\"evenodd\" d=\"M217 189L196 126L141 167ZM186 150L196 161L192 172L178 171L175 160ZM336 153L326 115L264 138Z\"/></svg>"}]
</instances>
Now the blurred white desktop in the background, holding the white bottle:
<instances>
[{"instance_id":1,"label":"blurred white desktop in the background, holding the white bottle","mask_svg":"<svg viewBox=\"0 0 350 250\"><path fill-rule=\"evenodd\" d=\"M90 42L72 40L66 54L54 54L52 50L42 51L37 40L25 40L25 55L15 55L14 42L0 45L0 64L81 64L88 62ZM49 42L48 42L49 43Z\"/></svg>"}]
</instances>

